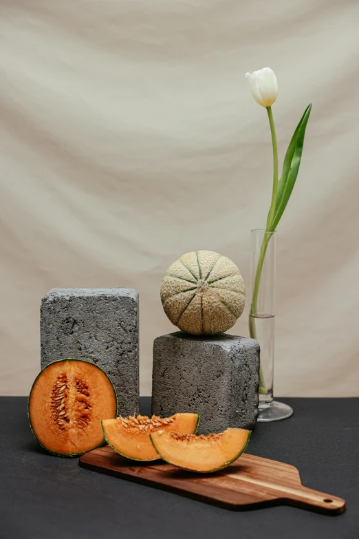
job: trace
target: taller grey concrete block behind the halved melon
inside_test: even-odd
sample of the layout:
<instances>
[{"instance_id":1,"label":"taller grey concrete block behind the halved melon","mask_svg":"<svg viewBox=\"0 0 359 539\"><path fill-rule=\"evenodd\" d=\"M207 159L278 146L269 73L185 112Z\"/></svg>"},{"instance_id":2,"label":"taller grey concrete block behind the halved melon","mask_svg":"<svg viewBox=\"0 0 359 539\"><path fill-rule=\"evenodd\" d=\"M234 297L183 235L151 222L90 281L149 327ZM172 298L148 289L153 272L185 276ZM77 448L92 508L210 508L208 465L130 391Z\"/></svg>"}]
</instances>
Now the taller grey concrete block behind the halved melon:
<instances>
[{"instance_id":1,"label":"taller grey concrete block behind the halved melon","mask_svg":"<svg viewBox=\"0 0 359 539\"><path fill-rule=\"evenodd\" d=\"M52 288L41 302L41 368L64 357L95 363L116 388L118 412L138 412L138 291Z\"/></svg>"}]
</instances>

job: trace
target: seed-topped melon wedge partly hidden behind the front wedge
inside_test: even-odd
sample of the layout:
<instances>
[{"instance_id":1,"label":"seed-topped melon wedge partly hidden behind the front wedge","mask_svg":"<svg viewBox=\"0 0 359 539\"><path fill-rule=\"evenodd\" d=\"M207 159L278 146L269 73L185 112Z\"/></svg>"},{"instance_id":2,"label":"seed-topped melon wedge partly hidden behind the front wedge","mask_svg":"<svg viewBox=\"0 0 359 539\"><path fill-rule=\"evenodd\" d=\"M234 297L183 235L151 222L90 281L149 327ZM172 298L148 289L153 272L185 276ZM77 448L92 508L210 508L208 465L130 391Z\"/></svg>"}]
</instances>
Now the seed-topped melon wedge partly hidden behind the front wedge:
<instances>
[{"instance_id":1,"label":"seed-topped melon wedge partly hidden behind the front wedge","mask_svg":"<svg viewBox=\"0 0 359 539\"><path fill-rule=\"evenodd\" d=\"M162 430L194 434L198 420L198 414L175 414L165 418L138 415L102 419L101 423L107 443L120 455L134 461L155 461L160 457L151 443L150 433Z\"/></svg>"}]
</instances>

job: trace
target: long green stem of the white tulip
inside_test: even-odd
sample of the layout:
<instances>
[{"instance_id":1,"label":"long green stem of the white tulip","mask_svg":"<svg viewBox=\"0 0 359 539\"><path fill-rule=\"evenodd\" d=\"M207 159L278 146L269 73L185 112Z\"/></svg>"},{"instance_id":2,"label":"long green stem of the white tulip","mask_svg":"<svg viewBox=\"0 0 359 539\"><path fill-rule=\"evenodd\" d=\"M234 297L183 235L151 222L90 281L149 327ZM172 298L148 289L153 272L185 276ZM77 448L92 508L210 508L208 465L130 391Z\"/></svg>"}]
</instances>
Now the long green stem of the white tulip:
<instances>
[{"instance_id":1,"label":"long green stem of the white tulip","mask_svg":"<svg viewBox=\"0 0 359 539\"><path fill-rule=\"evenodd\" d=\"M261 284L261 274L263 271L263 264L265 253L267 252L268 244L272 234L271 226L274 219L274 212L276 209L276 195L278 191L278 148L276 145L276 129L274 127L274 120L271 107L267 107L268 118L270 122L270 133L272 134L272 146L273 146L273 189L272 189L272 201L270 203L270 211L268 213L267 226L265 227L265 234L261 245L261 251L259 253L257 271L254 277L252 304L250 306L250 337L257 339L257 330L254 317L257 317L257 302L259 294L259 285ZM264 372L262 365L259 367L259 393L265 394L268 390L265 386Z\"/></svg>"}]
</instances>

